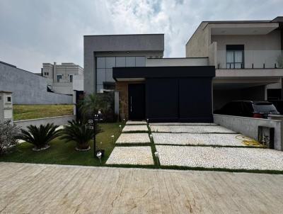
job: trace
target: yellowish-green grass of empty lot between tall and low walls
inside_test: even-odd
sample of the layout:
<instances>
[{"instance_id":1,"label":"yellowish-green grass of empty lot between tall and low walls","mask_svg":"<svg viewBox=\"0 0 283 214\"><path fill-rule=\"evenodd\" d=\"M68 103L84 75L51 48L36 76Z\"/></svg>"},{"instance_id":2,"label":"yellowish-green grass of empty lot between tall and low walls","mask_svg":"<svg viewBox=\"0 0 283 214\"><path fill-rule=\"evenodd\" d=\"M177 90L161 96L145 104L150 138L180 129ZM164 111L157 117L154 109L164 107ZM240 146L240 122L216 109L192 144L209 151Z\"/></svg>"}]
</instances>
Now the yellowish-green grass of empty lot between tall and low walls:
<instances>
[{"instance_id":1,"label":"yellowish-green grass of empty lot between tall and low walls","mask_svg":"<svg viewBox=\"0 0 283 214\"><path fill-rule=\"evenodd\" d=\"M72 114L73 105L13 105L13 120L49 118Z\"/></svg>"}]
</instances>

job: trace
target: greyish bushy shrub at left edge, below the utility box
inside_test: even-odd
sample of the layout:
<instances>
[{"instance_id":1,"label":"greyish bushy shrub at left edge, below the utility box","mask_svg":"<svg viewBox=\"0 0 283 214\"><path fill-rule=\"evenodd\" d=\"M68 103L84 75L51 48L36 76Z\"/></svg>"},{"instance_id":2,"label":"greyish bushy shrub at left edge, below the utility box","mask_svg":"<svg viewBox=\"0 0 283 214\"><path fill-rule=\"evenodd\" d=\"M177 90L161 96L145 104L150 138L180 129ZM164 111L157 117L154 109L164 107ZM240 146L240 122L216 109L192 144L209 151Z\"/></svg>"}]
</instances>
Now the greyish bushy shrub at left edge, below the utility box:
<instances>
[{"instance_id":1,"label":"greyish bushy shrub at left edge, below the utility box","mask_svg":"<svg viewBox=\"0 0 283 214\"><path fill-rule=\"evenodd\" d=\"M0 155L17 145L19 129L11 120L0 123Z\"/></svg>"}]
</instances>

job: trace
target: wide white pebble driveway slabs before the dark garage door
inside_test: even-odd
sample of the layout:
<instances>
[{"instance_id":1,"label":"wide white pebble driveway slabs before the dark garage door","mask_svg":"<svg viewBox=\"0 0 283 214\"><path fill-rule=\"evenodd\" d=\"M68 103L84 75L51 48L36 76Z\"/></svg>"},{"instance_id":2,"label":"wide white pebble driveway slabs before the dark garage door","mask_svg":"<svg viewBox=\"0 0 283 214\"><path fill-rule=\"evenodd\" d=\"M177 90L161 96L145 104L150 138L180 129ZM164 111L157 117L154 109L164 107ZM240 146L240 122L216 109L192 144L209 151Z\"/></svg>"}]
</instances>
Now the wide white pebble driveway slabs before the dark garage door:
<instances>
[{"instance_id":1,"label":"wide white pebble driveway slabs before the dark garage door","mask_svg":"<svg viewBox=\"0 0 283 214\"><path fill-rule=\"evenodd\" d=\"M216 124L151 124L161 166L283 171L283 152ZM250 139L248 139L250 140Z\"/></svg>"}]
</instances>

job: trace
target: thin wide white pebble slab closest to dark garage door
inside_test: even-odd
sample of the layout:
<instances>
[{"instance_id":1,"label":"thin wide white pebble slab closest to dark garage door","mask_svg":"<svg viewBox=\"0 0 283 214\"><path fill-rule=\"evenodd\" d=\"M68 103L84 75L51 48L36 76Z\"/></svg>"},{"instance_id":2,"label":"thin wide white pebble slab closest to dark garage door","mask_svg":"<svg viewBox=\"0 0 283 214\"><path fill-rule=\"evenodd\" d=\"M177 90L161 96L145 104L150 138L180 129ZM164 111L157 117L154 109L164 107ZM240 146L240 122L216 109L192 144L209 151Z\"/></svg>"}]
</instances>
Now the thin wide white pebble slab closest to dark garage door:
<instances>
[{"instance_id":1,"label":"thin wide white pebble slab closest to dark garage door","mask_svg":"<svg viewBox=\"0 0 283 214\"><path fill-rule=\"evenodd\" d=\"M151 125L154 133L235 133L220 125Z\"/></svg>"}]
</instances>

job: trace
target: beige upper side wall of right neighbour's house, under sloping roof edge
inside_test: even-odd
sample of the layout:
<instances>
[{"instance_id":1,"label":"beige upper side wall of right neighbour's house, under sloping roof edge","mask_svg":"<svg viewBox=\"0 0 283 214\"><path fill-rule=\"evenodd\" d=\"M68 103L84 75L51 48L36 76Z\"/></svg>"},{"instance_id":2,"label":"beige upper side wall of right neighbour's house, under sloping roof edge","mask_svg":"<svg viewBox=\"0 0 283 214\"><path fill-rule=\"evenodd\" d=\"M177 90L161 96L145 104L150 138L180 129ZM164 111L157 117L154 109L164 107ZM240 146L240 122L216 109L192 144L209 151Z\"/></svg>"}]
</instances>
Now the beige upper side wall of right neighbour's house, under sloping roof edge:
<instances>
[{"instance_id":1,"label":"beige upper side wall of right neighbour's house, under sloping roof edge","mask_svg":"<svg viewBox=\"0 0 283 214\"><path fill-rule=\"evenodd\" d=\"M186 44L186 57L208 57L210 28L202 22Z\"/></svg>"}]
</instances>

